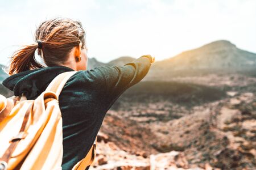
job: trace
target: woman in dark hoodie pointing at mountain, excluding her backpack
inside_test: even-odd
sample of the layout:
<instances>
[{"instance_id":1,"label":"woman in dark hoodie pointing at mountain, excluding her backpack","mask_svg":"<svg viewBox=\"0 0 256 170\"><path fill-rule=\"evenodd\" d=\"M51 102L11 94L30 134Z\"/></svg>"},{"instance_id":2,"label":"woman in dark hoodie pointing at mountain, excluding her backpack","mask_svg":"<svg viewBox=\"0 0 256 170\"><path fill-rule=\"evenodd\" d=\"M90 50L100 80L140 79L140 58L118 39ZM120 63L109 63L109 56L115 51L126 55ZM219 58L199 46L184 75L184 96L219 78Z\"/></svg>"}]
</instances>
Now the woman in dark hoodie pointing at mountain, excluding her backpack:
<instances>
[{"instance_id":1,"label":"woman in dark hoodie pointing at mountain, excluding her backpack","mask_svg":"<svg viewBox=\"0 0 256 170\"><path fill-rule=\"evenodd\" d=\"M114 101L146 76L155 58L145 55L123 66L86 70L85 31L81 22L68 18L41 23L36 29L35 41L13 54L10 76L3 81L3 86L14 91L15 96L24 93L28 100L36 99L55 76L77 71L59 96L63 118L61 167L72 169L90 150ZM47 67L36 61L36 49Z\"/></svg>"}]
</instances>

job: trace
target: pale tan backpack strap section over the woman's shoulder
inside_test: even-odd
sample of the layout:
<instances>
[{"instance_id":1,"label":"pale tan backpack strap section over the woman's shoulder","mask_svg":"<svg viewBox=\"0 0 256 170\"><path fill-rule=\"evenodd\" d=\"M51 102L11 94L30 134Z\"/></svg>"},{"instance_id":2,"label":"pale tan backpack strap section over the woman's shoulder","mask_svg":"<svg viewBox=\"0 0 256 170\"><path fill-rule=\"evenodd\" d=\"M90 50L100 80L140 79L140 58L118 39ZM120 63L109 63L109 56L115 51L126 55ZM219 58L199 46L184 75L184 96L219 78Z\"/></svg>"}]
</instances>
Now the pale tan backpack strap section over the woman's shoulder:
<instances>
[{"instance_id":1,"label":"pale tan backpack strap section over the woman's shoulder","mask_svg":"<svg viewBox=\"0 0 256 170\"><path fill-rule=\"evenodd\" d=\"M46 91L55 92L57 98L59 99L59 95L65 84L67 83L68 79L71 78L77 71L66 71L57 75L51 83L49 83Z\"/></svg>"}]
</instances>

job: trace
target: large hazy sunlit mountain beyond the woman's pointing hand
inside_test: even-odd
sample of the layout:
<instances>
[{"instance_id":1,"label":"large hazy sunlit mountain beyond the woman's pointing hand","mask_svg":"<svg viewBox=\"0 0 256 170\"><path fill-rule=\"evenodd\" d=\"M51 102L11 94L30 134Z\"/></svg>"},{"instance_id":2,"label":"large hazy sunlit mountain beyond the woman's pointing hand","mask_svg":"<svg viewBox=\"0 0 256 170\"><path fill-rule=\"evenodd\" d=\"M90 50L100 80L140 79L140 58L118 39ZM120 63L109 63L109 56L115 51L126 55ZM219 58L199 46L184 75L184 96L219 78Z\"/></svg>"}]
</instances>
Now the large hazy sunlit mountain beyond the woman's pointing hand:
<instances>
[{"instance_id":1,"label":"large hazy sunlit mountain beyond the woman's pointing hand","mask_svg":"<svg viewBox=\"0 0 256 170\"><path fill-rule=\"evenodd\" d=\"M256 54L239 49L230 41L218 40L154 62L144 80L233 73L256 76Z\"/></svg>"}]
</instances>

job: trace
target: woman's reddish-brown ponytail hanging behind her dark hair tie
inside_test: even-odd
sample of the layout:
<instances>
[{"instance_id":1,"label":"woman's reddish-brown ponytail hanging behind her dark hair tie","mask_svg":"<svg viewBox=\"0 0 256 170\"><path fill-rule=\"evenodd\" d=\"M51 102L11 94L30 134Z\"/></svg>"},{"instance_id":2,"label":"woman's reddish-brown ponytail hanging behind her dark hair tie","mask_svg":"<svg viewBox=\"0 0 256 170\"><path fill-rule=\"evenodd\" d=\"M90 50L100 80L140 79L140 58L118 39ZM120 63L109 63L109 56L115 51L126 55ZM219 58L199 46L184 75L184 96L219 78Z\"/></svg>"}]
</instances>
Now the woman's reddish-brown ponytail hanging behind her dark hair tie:
<instances>
[{"instance_id":1,"label":"woman's reddish-brown ponytail hanging behind her dark hair tie","mask_svg":"<svg viewBox=\"0 0 256 170\"><path fill-rule=\"evenodd\" d=\"M39 69L44 66L35 59L35 51L38 43L32 45L24 45L24 48L16 50L11 56L9 75L20 73L31 69Z\"/></svg>"}]
</instances>

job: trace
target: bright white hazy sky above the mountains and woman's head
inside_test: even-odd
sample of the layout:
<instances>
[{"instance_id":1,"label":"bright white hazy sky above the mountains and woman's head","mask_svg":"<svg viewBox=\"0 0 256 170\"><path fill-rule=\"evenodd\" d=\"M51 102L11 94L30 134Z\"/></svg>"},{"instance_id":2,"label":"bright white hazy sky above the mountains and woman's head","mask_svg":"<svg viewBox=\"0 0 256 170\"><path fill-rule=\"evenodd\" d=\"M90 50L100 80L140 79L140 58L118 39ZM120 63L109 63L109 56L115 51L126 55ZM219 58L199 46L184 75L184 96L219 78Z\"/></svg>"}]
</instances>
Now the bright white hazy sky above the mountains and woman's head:
<instances>
[{"instance_id":1,"label":"bright white hazy sky above the mountains and woman's head","mask_svg":"<svg viewBox=\"0 0 256 170\"><path fill-rule=\"evenodd\" d=\"M221 39L256 53L256 0L0 0L0 63L56 16L82 22L88 56L101 62L143 54L159 61Z\"/></svg>"}]
</instances>

